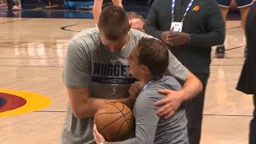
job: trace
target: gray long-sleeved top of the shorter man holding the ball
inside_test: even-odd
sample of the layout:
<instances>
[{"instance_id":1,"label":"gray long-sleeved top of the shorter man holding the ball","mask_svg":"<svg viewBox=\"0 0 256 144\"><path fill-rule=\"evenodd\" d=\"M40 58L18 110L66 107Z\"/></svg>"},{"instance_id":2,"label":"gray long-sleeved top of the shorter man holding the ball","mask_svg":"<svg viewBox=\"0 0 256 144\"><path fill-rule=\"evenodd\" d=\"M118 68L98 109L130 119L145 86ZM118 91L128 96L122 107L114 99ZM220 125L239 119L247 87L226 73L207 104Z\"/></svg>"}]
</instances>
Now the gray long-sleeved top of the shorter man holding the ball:
<instances>
[{"instance_id":1,"label":"gray long-sleeved top of the shorter man holding the ball","mask_svg":"<svg viewBox=\"0 0 256 144\"><path fill-rule=\"evenodd\" d=\"M188 144L187 119L184 108L169 119L159 118L156 114L158 107L154 102L165 95L158 90L180 90L182 87L177 80L170 76L151 82L145 90L138 95L134 104L134 118L136 122L135 138L122 142L106 142L110 144Z\"/></svg>"}]
</instances>

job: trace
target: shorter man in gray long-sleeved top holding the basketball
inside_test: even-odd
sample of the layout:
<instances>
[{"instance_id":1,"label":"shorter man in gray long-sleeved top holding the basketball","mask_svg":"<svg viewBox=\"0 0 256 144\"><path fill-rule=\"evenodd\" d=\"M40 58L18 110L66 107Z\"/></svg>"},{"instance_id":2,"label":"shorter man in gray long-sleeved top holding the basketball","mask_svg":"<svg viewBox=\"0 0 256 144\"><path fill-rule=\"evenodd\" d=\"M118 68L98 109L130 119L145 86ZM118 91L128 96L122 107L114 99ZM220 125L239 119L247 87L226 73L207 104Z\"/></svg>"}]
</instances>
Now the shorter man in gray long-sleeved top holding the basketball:
<instances>
[{"instance_id":1,"label":"shorter man in gray long-sleeved top holding the basketball","mask_svg":"<svg viewBox=\"0 0 256 144\"><path fill-rule=\"evenodd\" d=\"M168 119L159 118L154 102L165 98L160 89L181 90L173 77L163 76L169 65L166 44L153 38L142 38L129 57L130 74L142 83L142 91L134 104L135 138L122 142L105 142L94 124L97 144L187 144L186 112L180 108Z\"/></svg>"}]
</instances>

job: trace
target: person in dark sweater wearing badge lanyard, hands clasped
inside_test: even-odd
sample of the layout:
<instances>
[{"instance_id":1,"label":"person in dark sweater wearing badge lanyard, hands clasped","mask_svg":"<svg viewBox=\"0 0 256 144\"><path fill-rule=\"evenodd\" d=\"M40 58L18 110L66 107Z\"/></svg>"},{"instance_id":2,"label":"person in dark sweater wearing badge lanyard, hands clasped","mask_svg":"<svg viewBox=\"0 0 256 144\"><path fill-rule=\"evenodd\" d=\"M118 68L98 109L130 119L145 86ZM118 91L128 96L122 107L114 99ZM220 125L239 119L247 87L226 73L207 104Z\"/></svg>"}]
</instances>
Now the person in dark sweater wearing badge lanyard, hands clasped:
<instances>
[{"instance_id":1,"label":"person in dark sweater wearing badge lanyard, hands clasped","mask_svg":"<svg viewBox=\"0 0 256 144\"><path fill-rule=\"evenodd\" d=\"M202 82L202 92L186 102L189 141L198 144L210 76L211 46L222 44L225 39L225 23L218 3L213 0L155 0L146 18L146 34L166 42L174 56Z\"/></svg>"}]
</instances>

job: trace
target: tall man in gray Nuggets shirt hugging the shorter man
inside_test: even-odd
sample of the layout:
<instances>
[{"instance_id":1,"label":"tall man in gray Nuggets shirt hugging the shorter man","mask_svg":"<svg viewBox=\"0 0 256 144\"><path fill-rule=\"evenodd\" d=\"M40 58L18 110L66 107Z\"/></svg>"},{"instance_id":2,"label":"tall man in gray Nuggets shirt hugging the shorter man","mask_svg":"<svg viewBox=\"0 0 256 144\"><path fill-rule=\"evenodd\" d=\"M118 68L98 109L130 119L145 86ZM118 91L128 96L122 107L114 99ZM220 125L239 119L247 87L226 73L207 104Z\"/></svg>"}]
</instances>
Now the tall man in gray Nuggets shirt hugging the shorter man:
<instances>
[{"instance_id":1,"label":"tall man in gray Nuggets shirt hugging the shorter man","mask_svg":"<svg viewBox=\"0 0 256 144\"><path fill-rule=\"evenodd\" d=\"M129 74L127 58L142 37L150 36L130 30L126 11L119 6L109 6L102 10L98 29L84 30L71 39L63 73L69 97L63 144L95 143L92 123L100 106L114 101L134 105L140 87L132 85L135 79ZM198 78L173 54L169 57L167 73L184 84L182 90L168 90L165 105L158 109L158 114L166 117L202 90Z\"/></svg>"}]
</instances>

